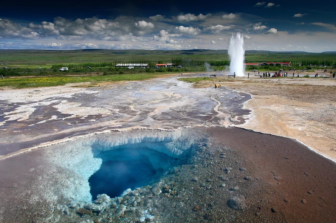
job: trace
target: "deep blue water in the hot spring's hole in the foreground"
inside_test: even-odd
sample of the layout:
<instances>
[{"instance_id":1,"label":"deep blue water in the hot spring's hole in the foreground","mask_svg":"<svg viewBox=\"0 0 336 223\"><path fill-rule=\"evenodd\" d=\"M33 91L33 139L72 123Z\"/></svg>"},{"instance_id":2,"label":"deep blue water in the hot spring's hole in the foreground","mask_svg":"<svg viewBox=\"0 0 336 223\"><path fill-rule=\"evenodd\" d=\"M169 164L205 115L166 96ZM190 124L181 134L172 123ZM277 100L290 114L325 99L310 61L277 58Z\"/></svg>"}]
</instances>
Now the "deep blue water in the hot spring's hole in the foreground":
<instances>
[{"instance_id":1,"label":"deep blue water in the hot spring's hole in the foreground","mask_svg":"<svg viewBox=\"0 0 336 223\"><path fill-rule=\"evenodd\" d=\"M167 142L142 142L117 147L92 146L95 158L102 164L89 178L90 193L118 197L123 191L134 190L157 181L166 171L176 165L185 164L188 157L171 157L164 152ZM157 151L159 150L159 151Z\"/></svg>"}]
</instances>

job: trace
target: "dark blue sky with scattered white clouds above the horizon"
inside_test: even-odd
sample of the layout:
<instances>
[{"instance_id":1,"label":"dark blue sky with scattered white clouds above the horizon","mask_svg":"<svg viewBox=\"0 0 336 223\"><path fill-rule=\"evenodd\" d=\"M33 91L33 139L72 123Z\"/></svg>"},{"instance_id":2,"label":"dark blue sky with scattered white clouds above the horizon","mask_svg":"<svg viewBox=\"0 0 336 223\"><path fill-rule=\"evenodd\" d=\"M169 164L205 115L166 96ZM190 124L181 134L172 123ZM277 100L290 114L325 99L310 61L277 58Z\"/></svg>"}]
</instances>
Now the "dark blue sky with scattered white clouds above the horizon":
<instances>
[{"instance_id":1,"label":"dark blue sky with scattered white clouds above the horizon","mask_svg":"<svg viewBox=\"0 0 336 223\"><path fill-rule=\"evenodd\" d=\"M0 49L336 51L336 1L12 1Z\"/></svg>"}]
</instances>

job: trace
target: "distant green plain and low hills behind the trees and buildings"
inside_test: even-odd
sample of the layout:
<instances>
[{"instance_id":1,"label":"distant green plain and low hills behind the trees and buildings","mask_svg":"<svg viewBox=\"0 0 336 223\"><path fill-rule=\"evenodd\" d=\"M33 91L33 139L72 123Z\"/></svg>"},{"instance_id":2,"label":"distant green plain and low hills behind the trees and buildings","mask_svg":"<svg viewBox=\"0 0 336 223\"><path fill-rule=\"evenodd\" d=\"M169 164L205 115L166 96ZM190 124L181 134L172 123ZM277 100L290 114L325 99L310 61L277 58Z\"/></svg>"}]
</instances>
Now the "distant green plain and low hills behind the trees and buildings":
<instances>
[{"instance_id":1,"label":"distant green plain and low hills behind the trees and buildings","mask_svg":"<svg viewBox=\"0 0 336 223\"><path fill-rule=\"evenodd\" d=\"M7 63L6 66L50 67L52 64L127 61L140 58L168 63L176 57L204 62L229 60L227 50L0 50L0 62ZM246 51L245 60L247 62L336 61L336 53Z\"/></svg>"}]
</instances>

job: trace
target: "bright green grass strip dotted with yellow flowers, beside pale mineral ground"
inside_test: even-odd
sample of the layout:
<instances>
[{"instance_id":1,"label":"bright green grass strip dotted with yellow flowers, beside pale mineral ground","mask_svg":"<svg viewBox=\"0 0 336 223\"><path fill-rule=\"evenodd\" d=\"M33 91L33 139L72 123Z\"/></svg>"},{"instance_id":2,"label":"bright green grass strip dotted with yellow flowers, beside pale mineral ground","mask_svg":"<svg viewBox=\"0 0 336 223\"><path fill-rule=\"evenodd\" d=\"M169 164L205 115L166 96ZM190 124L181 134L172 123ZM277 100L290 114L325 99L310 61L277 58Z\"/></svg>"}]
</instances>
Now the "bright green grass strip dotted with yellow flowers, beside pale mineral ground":
<instances>
[{"instance_id":1,"label":"bright green grass strip dotted with yellow flowers, beside pale mineral ground","mask_svg":"<svg viewBox=\"0 0 336 223\"><path fill-rule=\"evenodd\" d=\"M8 86L15 88L24 87L50 87L69 83L91 82L117 82L117 81L136 81L157 78L164 73L145 73L145 74L117 74L101 76L49 76L49 77L28 77L28 78L3 78L0 79L0 87Z\"/></svg>"}]
</instances>

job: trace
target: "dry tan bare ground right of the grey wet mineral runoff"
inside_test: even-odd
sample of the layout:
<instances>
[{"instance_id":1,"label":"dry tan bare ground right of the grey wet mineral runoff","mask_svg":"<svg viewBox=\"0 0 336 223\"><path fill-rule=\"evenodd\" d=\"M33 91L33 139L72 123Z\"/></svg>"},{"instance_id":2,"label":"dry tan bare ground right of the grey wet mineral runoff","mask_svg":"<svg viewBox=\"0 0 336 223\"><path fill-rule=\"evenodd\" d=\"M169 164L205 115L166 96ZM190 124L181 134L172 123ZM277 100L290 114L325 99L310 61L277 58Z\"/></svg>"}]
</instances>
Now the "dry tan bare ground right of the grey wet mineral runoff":
<instances>
[{"instance_id":1,"label":"dry tan bare ground right of the grey wet mineral runoff","mask_svg":"<svg viewBox=\"0 0 336 223\"><path fill-rule=\"evenodd\" d=\"M336 160L336 78L264 79L251 75L212 78L194 87L215 83L253 95L244 107L252 110L251 117L237 127L290 137Z\"/></svg>"}]
</instances>

